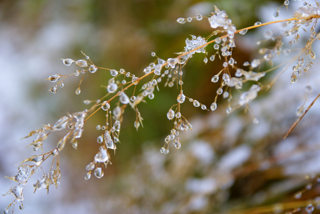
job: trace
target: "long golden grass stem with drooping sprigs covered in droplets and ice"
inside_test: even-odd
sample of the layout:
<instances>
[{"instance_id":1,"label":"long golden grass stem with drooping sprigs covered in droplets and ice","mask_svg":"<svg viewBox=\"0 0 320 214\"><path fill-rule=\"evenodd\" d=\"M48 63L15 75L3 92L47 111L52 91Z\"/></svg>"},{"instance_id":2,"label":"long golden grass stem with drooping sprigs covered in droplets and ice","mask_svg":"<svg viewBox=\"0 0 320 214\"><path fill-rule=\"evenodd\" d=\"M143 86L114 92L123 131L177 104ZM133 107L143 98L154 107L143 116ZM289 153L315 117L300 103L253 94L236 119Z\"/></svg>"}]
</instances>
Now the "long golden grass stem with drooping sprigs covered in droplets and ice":
<instances>
[{"instance_id":1,"label":"long golden grass stem with drooping sprigs covered in droplets and ice","mask_svg":"<svg viewBox=\"0 0 320 214\"><path fill-rule=\"evenodd\" d=\"M285 0L283 5L287 7L289 1ZM275 18L279 16L279 10L280 8L275 12ZM303 2L301 7L292 14L291 18L266 23L256 22L253 26L238 30L228 18L227 12L220 11L217 7L215 7L214 12L212 12L209 17L196 14L195 17L179 18L177 22L180 24L191 22L193 19L197 21L207 19L214 31L208 37L190 35L191 39L187 38L185 40L186 46L183 51L178 53L178 56L160 59L152 52L151 55L156 57L156 60L143 69L143 75L141 76L136 76L124 69L115 70L98 67L86 54L84 54L85 59L62 59L65 65L72 66L75 64L78 69L69 75L55 74L47 78L47 80L55 83L49 90L50 92L54 94L57 93L58 88L64 86L64 80L67 77L81 75L79 86L75 90L75 93L79 95L81 93L80 86L85 74L108 71L110 72L111 78L108 80L107 86L105 86L107 93L99 99L84 100L85 104L91 105L88 109L68 113L58 119L54 125L44 125L37 130L31 131L29 135L26 136L36 135L36 139L33 140L29 146L32 146L35 152L41 149L41 154L22 160L19 163L17 174L12 177L7 177L17 182L17 185L10 188L7 192L7 194L14 195L15 199L4 210L4 213L8 213L9 208L17 203L21 203L20 209L24 208L22 204L24 200L23 188L28 179L38 171L38 168L42 169L41 164L44 160L52 158L51 168L49 172L44 173L43 177L39 178L34 184L35 190L45 188L49 191L50 185L57 187L60 184L59 152L65 147L67 142L70 142L75 149L77 148L78 139L82 136L85 122L97 111L104 111L106 113L106 121L102 126L98 125L96 127L96 129L101 130L101 134L97 136L97 142L100 146L97 146L99 149L93 157L92 162L85 166L85 169L88 171L84 176L85 180L90 179L92 173L97 178L103 177L104 169L108 163L111 163L109 152L111 150L113 150L113 152L116 151L124 110L135 111L136 119L132 122L132 125L138 130L140 125L142 126L143 120L143 115L141 116L138 109L139 104L145 102L146 99L154 99L155 91L159 91L163 86L172 88L176 86L178 88L178 92L174 92L177 94L177 102L168 109L166 115L169 120L173 121L172 129L168 130L168 135L164 138L164 145L160 149L161 153L168 154L171 142L175 148L179 149L181 147L180 132L192 130L192 125L182 113L182 103L185 101L188 100L195 107L200 107L202 110L215 111L217 109L218 96L221 95L221 97L228 102L226 113L230 114L241 106L250 109L250 102L257 98L261 90L269 89L277 77L268 84L263 84L260 79L268 72L276 72L276 69L280 66L284 68L280 70L279 75L295 63L292 67L292 74L288 79L291 83L297 82L299 75L308 72L309 68L313 65L313 60L316 59L312 46L316 40L320 39L320 34L316 32L318 18L320 18L320 6L318 2L314 5ZM250 29L278 22L286 23L288 29L278 36L274 36L274 32L271 30L266 32L268 39L259 41L258 45L263 45L268 42L273 45L268 48L260 48L259 53L262 54L263 57L253 59L251 62L241 62L239 63L240 65L238 65L232 55L234 48L236 48L235 34L239 33L244 35ZM289 48L285 47L284 37L291 38L289 42L290 45L298 43L300 42L300 29L304 29L310 33L304 47L301 48L300 52L293 56L290 61L284 62L282 65L273 66L273 58L277 56L281 57L291 52ZM209 45L212 46L213 50L212 48L207 50ZM222 62L222 70L214 71L214 75L212 75L211 78L211 82L218 84L219 87L212 95L212 104L210 107L205 106L196 99L189 98L188 95L183 92L184 82L182 81L182 77L183 72L186 71L182 69L196 53L204 54L204 63L208 63L209 60L217 60L217 58ZM266 65L271 67L271 69L263 70ZM307 90L312 90L310 85L307 86ZM239 96L233 96L234 92L238 93ZM304 107L301 107L299 108L298 115L303 116L305 112ZM252 121L255 124L258 123L258 119L254 117ZM44 141L49 134L51 135L55 131L65 131L65 134L58 141L56 148L53 148L49 152L43 152ZM125 130L122 132L125 132ZM29 163L26 164L26 162Z\"/></svg>"}]
</instances>

